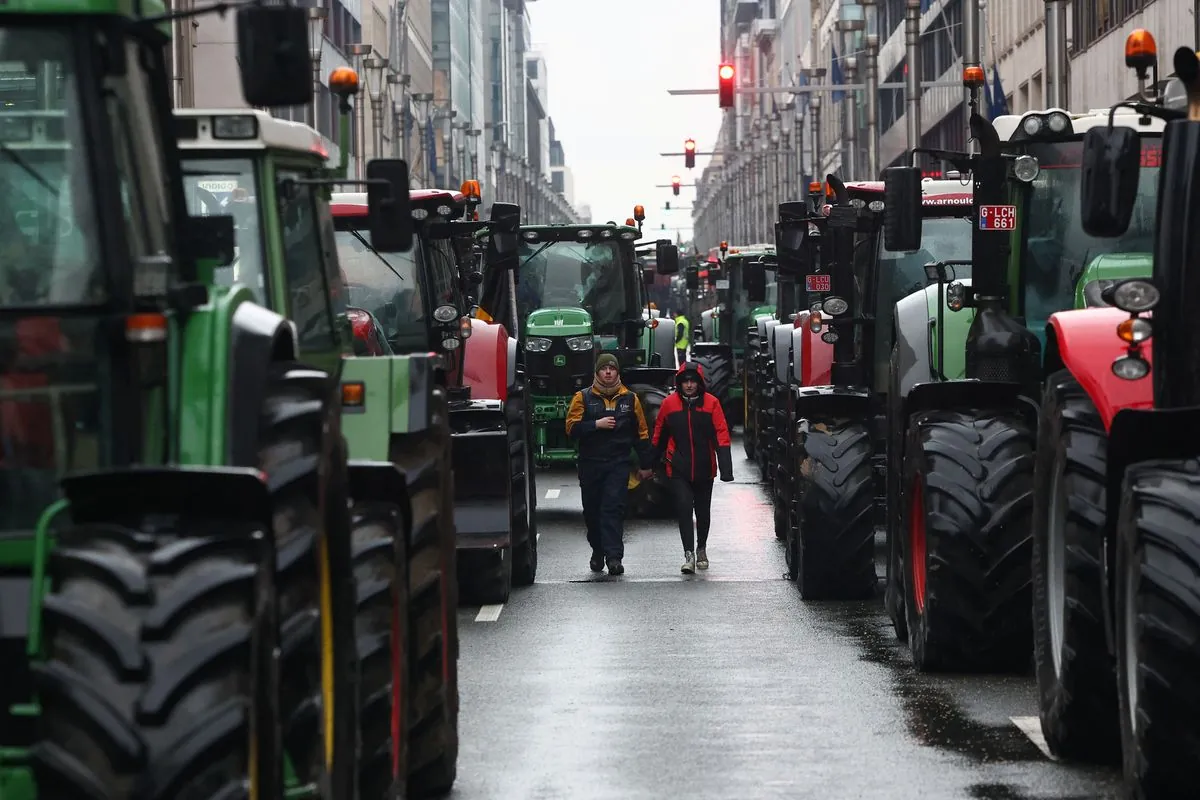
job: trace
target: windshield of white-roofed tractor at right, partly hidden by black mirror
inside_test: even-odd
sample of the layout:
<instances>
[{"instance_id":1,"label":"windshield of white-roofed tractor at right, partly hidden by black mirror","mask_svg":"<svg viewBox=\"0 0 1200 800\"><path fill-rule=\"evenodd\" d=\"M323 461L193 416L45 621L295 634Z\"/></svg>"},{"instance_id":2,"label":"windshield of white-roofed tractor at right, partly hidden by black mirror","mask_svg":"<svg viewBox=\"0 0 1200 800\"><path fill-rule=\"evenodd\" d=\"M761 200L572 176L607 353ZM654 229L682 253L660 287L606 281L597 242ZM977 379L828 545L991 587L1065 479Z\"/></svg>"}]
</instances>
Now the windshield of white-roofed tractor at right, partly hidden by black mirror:
<instances>
[{"instance_id":1,"label":"windshield of white-roofed tractor at right, partly hidden by black mirror","mask_svg":"<svg viewBox=\"0 0 1200 800\"><path fill-rule=\"evenodd\" d=\"M1033 331L1040 332L1054 312L1074 306L1075 284L1097 255L1154 251L1160 136L1142 137L1133 221L1124 235L1116 239L1096 239L1084 233L1079 193L1082 150L1081 140L1028 146L1028 154L1042 167L1020 219L1025 317Z\"/></svg>"}]
</instances>

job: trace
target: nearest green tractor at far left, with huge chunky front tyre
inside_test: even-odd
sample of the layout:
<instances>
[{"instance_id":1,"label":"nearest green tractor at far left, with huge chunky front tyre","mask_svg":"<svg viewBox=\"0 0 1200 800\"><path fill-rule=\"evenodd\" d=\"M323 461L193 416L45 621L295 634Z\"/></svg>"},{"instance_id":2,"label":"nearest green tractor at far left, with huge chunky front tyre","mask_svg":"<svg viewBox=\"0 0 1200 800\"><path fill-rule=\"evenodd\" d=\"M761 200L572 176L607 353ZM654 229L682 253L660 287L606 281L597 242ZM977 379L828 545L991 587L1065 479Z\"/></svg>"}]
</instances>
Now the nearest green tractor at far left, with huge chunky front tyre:
<instances>
[{"instance_id":1,"label":"nearest green tractor at far left, with huge chunky front tyre","mask_svg":"<svg viewBox=\"0 0 1200 800\"><path fill-rule=\"evenodd\" d=\"M355 642L396 637L402 513L366 524L350 504L374 476L404 488L390 464L347 464L334 314L300 327L222 284L232 219L187 211L164 44L194 13L0 17L19 31L0 60L20 65L0 134L10 800L356 796ZM236 24L247 103L310 102L304 12L247 5ZM394 191L376 217L402 248ZM366 603L352 542L384 585Z\"/></svg>"}]
</instances>

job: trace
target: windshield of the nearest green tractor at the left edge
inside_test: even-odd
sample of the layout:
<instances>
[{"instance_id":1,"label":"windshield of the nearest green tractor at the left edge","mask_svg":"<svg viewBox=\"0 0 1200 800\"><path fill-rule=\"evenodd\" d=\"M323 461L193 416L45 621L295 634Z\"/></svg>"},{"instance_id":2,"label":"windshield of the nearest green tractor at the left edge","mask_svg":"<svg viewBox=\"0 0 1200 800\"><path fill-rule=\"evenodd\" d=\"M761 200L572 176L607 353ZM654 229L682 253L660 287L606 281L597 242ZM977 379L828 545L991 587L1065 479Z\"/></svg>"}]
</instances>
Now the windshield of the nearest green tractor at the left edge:
<instances>
[{"instance_id":1,"label":"windshield of the nearest green tractor at the left edge","mask_svg":"<svg viewBox=\"0 0 1200 800\"><path fill-rule=\"evenodd\" d=\"M0 37L0 305L94 305L107 287L79 102L76 40Z\"/></svg>"}]
</instances>

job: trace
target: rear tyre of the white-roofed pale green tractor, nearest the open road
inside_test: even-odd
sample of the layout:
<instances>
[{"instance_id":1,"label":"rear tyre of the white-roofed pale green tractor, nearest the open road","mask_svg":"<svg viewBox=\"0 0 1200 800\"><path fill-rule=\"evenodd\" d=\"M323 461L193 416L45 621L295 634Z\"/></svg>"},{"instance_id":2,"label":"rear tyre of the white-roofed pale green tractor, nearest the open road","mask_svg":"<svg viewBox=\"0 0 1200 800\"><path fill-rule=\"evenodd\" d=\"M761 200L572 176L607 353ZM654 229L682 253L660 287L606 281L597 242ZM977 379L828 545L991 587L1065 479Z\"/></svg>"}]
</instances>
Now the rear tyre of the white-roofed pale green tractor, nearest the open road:
<instances>
[{"instance_id":1,"label":"rear tyre of the white-roofed pale green tractor, nearest the open road","mask_svg":"<svg viewBox=\"0 0 1200 800\"><path fill-rule=\"evenodd\" d=\"M412 507L408 540L408 796L440 796L458 769L458 581L445 395L430 427L392 439ZM504 558L511 566L511 559Z\"/></svg>"}]
</instances>

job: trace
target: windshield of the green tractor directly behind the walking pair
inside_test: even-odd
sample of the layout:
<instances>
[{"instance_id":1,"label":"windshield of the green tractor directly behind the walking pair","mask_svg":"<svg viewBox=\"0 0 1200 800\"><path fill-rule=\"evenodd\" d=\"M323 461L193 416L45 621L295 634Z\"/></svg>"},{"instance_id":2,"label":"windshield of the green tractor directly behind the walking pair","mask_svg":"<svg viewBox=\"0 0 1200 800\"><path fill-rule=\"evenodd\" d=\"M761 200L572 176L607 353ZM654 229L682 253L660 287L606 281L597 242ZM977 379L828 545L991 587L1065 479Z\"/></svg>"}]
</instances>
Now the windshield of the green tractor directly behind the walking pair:
<instances>
[{"instance_id":1,"label":"windshield of the green tractor directly behind the walking pair","mask_svg":"<svg viewBox=\"0 0 1200 800\"><path fill-rule=\"evenodd\" d=\"M626 272L614 241L521 243L517 308L524 319L539 308L586 308L595 330L626 319Z\"/></svg>"}]
</instances>

